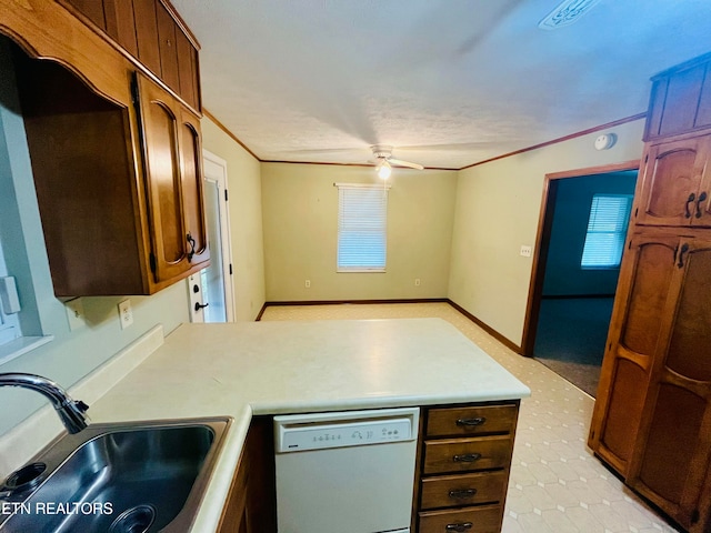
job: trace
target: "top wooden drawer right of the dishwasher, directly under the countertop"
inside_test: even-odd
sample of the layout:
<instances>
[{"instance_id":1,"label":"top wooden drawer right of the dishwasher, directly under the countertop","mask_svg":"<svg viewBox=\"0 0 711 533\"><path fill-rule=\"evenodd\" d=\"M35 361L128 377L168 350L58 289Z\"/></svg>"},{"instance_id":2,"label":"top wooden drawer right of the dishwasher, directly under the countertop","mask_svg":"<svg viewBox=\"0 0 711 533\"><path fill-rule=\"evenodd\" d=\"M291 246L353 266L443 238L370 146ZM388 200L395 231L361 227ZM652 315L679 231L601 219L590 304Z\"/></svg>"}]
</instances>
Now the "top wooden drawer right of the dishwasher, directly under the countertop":
<instances>
[{"instance_id":1,"label":"top wooden drawer right of the dishwasher, directly under the countertop","mask_svg":"<svg viewBox=\"0 0 711 533\"><path fill-rule=\"evenodd\" d=\"M427 419L427 436L469 436L511 433L515 429L515 405L431 409Z\"/></svg>"}]
</instances>

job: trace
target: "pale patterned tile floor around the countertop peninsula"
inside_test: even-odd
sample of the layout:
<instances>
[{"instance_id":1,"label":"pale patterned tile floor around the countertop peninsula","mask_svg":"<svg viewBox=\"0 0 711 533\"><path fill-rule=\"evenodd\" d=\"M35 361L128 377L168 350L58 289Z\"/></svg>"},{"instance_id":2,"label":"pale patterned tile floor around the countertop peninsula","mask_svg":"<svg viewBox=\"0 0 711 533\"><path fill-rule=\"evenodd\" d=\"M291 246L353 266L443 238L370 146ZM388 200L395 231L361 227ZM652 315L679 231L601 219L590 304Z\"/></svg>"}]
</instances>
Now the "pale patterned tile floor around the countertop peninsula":
<instances>
[{"instance_id":1,"label":"pale patterned tile floor around the countertop peninsula","mask_svg":"<svg viewBox=\"0 0 711 533\"><path fill-rule=\"evenodd\" d=\"M585 445L593 399L522 358L448 303L270 306L261 320L439 316L524 382L503 533L677 532L612 475Z\"/></svg>"}]
</instances>

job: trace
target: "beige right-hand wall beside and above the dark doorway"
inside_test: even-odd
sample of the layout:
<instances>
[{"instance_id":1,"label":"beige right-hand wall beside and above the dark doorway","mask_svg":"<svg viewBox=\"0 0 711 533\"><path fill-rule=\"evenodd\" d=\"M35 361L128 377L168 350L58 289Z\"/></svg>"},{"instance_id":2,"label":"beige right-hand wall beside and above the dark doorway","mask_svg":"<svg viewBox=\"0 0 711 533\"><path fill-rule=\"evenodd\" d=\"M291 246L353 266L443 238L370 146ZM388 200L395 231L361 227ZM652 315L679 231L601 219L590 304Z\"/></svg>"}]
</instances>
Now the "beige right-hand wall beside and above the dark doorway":
<instances>
[{"instance_id":1,"label":"beige right-hand wall beside and above the dark doorway","mask_svg":"<svg viewBox=\"0 0 711 533\"><path fill-rule=\"evenodd\" d=\"M620 163L642 154L643 120L610 129L617 144L597 151L599 133L460 171L449 298L520 345L547 173Z\"/></svg>"}]
</instances>

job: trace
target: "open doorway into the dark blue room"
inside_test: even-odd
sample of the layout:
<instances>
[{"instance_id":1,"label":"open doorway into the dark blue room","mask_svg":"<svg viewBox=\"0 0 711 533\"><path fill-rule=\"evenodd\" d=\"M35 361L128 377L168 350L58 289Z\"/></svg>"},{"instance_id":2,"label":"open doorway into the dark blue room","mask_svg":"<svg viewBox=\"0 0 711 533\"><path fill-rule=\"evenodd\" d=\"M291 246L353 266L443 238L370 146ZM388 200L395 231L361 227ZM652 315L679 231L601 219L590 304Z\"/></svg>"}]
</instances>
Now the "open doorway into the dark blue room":
<instances>
[{"instance_id":1,"label":"open doorway into the dark blue room","mask_svg":"<svg viewBox=\"0 0 711 533\"><path fill-rule=\"evenodd\" d=\"M545 177L523 353L592 396L604 355L638 169L639 161L630 161ZM628 211L618 215L617 260L594 258L595 239L600 238L595 220L602 217L600 205L605 200L628 205ZM611 239L610 234L602 237Z\"/></svg>"}]
</instances>

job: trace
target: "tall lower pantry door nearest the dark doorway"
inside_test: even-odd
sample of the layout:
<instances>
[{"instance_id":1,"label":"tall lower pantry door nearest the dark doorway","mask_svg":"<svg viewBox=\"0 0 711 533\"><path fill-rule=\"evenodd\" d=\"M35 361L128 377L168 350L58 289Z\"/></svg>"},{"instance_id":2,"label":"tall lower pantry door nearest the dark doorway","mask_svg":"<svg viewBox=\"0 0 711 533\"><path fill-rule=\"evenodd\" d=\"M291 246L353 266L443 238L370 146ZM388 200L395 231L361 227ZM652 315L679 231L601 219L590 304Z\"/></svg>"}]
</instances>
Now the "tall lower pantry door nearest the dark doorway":
<instances>
[{"instance_id":1,"label":"tall lower pantry door nearest the dark doorway","mask_svg":"<svg viewBox=\"0 0 711 533\"><path fill-rule=\"evenodd\" d=\"M625 475L639 430L679 238L633 235L620 269L589 445Z\"/></svg>"}]
</instances>

